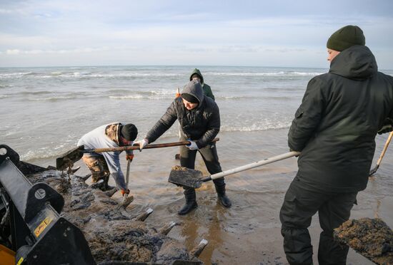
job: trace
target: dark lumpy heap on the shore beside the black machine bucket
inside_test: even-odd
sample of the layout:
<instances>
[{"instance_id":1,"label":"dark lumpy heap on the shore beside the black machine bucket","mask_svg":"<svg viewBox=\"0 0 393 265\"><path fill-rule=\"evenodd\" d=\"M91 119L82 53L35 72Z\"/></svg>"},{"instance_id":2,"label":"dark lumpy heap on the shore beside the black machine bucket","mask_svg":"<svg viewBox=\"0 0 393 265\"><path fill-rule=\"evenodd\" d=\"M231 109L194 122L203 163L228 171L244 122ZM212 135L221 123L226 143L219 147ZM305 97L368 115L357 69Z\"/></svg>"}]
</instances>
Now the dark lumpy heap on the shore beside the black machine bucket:
<instances>
[{"instance_id":1,"label":"dark lumpy heap on the shore beside the black machine bucket","mask_svg":"<svg viewBox=\"0 0 393 265\"><path fill-rule=\"evenodd\" d=\"M86 177L56 170L28 177L32 184L46 182L63 195L65 204L61 215L81 229L98 264L123 261L172 264L179 259L202 264L179 241L166 236L174 224L148 227L140 221L148 214L131 216L108 194L91 189L84 182Z\"/></svg>"}]
</instances>

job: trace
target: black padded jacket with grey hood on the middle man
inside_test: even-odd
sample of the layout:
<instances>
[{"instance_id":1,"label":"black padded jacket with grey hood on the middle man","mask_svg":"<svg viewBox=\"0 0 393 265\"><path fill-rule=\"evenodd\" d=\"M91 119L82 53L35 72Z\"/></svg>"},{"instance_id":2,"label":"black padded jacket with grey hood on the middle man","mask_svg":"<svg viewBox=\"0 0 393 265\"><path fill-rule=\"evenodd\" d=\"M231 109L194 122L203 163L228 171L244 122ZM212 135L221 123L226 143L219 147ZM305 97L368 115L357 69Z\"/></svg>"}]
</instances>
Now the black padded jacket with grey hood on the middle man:
<instances>
[{"instance_id":1,"label":"black padded jacket with grey hood on the middle man","mask_svg":"<svg viewBox=\"0 0 393 265\"><path fill-rule=\"evenodd\" d=\"M184 93L193 95L199 100L197 108L187 110L181 97L176 98L147 133L146 139L149 142L154 142L171 128L176 119L179 120L181 133L186 139L194 140L199 148L207 146L219 133L219 107L212 98L204 95L201 84L197 80L192 80L181 91L181 94Z\"/></svg>"}]
</instances>

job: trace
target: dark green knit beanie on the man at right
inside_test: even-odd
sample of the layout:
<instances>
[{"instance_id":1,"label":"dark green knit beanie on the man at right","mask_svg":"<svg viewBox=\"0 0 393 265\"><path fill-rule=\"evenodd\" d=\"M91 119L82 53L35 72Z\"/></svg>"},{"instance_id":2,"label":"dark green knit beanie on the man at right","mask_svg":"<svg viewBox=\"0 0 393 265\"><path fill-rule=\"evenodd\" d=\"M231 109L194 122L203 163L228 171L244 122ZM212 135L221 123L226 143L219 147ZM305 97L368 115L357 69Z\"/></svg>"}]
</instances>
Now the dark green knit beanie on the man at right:
<instances>
[{"instance_id":1,"label":"dark green knit beanie on the man at right","mask_svg":"<svg viewBox=\"0 0 393 265\"><path fill-rule=\"evenodd\" d=\"M344 51L351 46L365 44L366 38L364 38L362 29L348 25L334 32L327 40L326 46L334 51Z\"/></svg>"}]
</instances>

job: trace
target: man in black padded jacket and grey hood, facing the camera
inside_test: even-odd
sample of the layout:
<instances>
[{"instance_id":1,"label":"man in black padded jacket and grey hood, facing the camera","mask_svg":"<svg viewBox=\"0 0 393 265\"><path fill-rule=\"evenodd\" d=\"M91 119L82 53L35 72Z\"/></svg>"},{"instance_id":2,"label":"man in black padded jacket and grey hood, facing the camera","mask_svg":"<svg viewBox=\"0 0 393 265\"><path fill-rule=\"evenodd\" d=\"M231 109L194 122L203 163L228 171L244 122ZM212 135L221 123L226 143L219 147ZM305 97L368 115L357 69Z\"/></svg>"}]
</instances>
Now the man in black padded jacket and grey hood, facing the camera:
<instances>
[{"instance_id":1,"label":"man in black padded jacket and grey hood, facing the camera","mask_svg":"<svg viewBox=\"0 0 393 265\"><path fill-rule=\"evenodd\" d=\"M180 165L194 169L197 151L202 155L210 174L222 172L217 155L216 144L212 142L220 128L219 107L211 98L204 95L202 85L197 80L191 80L176 98L166 113L147 133L139 143L143 149L148 143L154 142L168 130L174 122L179 120L181 140L189 140L189 145L181 147ZM231 207L231 201L225 194L224 177L214 180L214 185L224 207ZM195 189L184 187L186 204L179 210L179 214L187 214L198 206Z\"/></svg>"}]
</instances>

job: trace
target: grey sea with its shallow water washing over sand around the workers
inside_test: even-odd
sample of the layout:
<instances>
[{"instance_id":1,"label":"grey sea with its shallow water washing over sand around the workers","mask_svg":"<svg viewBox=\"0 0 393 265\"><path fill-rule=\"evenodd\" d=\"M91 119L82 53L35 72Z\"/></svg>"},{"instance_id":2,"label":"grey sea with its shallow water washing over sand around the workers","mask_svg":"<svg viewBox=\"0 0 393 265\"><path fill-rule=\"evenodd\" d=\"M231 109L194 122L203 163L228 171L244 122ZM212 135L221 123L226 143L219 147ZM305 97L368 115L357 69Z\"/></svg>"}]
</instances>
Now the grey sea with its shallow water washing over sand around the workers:
<instances>
[{"instance_id":1,"label":"grey sea with its shallow water washing over sand around the workers","mask_svg":"<svg viewBox=\"0 0 393 265\"><path fill-rule=\"evenodd\" d=\"M137 139L141 139L165 113L195 67L202 71L219 105L222 125L217 150L223 170L288 152L287 133L307 83L328 71L249 66L0 68L0 144L9 145L21 160L46 167L76 147L82 135L106 123L134 123L139 130ZM393 76L392 70L382 72ZM155 143L177 140L176 122ZM377 135L373 165L386 140L387 134ZM359 193L354 217L377 215L393 225L391 150L387 150L369 187ZM129 210L155 209L156 214L147 219L152 224L171 220L183 223L171 233L187 247L206 237L211 243L200 258L208 264L277 260L285 264L278 213L297 170L296 158L228 176L227 193L234 204L231 209L217 203L214 186L207 183L197 192L199 208L179 217L176 210L184 202L182 189L167 182L171 166L179 163L174 159L176 152L178 147L135 152L129 185L135 201ZM126 160L121 161L125 172ZM200 157L196 165L207 174ZM81 167L77 174L89 174L82 162L76 166ZM316 220L312 237L317 248L320 231ZM274 237L269 239L271 234ZM258 249L256 237L262 245L264 239L275 243L264 245L264 252ZM242 251L236 251L239 244L244 244ZM351 262L367 261L352 253Z\"/></svg>"}]
</instances>

